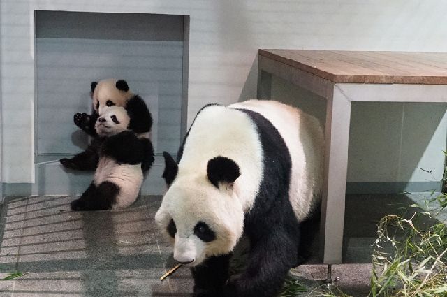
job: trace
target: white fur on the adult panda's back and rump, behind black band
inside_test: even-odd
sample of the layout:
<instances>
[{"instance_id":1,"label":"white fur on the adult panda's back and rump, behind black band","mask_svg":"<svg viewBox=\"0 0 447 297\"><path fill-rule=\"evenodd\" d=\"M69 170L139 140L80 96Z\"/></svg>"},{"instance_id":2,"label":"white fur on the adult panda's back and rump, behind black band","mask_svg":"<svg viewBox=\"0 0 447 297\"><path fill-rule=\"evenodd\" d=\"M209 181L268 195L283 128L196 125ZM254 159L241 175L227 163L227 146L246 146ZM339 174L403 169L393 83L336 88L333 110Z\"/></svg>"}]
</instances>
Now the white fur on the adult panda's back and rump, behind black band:
<instances>
[{"instance_id":1,"label":"white fur on the adult panda's back and rump, behind black band","mask_svg":"<svg viewBox=\"0 0 447 297\"><path fill-rule=\"evenodd\" d=\"M254 110L279 131L292 158L289 199L298 221L321 199L324 136L318 119L277 101L249 100L231 108Z\"/></svg>"}]
</instances>

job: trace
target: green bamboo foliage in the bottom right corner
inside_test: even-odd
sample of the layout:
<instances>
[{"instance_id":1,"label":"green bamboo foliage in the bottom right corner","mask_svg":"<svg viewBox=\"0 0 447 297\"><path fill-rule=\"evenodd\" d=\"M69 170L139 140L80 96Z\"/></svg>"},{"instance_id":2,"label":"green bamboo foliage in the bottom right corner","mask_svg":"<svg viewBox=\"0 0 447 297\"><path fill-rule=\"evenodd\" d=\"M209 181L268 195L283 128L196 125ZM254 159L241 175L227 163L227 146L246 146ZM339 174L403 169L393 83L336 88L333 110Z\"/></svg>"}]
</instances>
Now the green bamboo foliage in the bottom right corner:
<instances>
[{"instance_id":1,"label":"green bamboo foliage in the bottom right corner","mask_svg":"<svg viewBox=\"0 0 447 297\"><path fill-rule=\"evenodd\" d=\"M381 219L369 296L447 296L447 229L442 223L426 230L418 227L429 219L429 212L415 212L409 219L397 215Z\"/></svg>"}]
</instances>

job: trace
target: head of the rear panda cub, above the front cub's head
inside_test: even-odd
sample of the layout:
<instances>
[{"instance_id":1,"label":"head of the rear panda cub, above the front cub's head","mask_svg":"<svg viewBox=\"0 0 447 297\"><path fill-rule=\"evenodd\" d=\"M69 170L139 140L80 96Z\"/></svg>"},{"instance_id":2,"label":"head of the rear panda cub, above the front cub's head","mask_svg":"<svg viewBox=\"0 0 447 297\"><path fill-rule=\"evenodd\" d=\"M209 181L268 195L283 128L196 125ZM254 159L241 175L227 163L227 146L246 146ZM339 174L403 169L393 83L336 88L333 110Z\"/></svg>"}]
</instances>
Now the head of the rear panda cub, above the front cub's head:
<instances>
[{"instance_id":1,"label":"head of the rear panda cub, above the front cub's head","mask_svg":"<svg viewBox=\"0 0 447 297\"><path fill-rule=\"evenodd\" d=\"M133 93L129 90L126 80L108 79L91 82L93 108L98 114L101 114L102 109L107 106L125 107L132 96Z\"/></svg>"}]
</instances>

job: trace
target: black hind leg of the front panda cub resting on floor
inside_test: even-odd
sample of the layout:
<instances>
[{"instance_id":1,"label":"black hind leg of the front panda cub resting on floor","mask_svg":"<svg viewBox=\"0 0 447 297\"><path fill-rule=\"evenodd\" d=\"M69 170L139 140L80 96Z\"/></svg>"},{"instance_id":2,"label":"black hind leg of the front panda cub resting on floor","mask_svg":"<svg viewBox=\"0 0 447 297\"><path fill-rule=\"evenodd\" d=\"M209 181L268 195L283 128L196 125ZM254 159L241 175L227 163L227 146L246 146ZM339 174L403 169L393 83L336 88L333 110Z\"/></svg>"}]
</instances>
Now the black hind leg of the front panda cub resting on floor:
<instances>
[{"instance_id":1,"label":"black hind leg of the front panda cub resting on floor","mask_svg":"<svg viewBox=\"0 0 447 297\"><path fill-rule=\"evenodd\" d=\"M108 210L115 203L119 187L113 182L101 182L97 187L92 182L81 198L71 202L71 209Z\"/></svg>"}]
</instances>

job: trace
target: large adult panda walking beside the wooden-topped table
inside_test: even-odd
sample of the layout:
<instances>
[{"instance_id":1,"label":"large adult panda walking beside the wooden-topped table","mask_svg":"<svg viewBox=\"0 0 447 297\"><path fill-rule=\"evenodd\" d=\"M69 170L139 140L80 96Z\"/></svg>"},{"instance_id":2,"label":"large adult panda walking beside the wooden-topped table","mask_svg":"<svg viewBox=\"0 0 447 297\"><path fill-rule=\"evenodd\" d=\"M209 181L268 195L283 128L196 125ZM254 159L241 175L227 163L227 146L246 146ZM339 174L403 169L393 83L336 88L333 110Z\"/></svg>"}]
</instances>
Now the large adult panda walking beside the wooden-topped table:
<instances>
[{"instance_id":1,"label":"large adult panda walking beside the wooden-topped table","mask_svg":"<svg viewBox=\"0 0 447 297\"><path fill-rule=\"evenodd\" d=\"M174 259L192 268L194 296L279 292L298 265L300 222L318 205L323 146L317 119L275 101L199 111L177 162L164 154L168 191L155 217ZM228 280L242 231L247 268Z\"/></svg>"}]
</instances>

